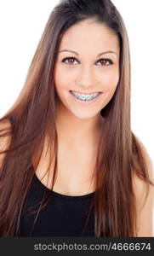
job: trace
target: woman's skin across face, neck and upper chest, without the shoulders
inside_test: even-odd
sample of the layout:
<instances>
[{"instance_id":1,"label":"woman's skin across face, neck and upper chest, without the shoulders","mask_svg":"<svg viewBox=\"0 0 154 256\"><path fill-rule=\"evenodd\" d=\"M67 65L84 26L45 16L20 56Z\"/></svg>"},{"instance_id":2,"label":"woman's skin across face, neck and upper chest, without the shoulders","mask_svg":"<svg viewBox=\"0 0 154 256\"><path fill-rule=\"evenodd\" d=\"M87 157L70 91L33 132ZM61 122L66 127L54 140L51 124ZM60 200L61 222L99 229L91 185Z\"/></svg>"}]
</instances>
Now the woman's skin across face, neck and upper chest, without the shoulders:
<instances>
[{"instance_id":1,"label":"woman's skin across face, neck and upper chest, without the shoulders","mask_svg":"<svg viewBox=\"0 0 154 256\"><path fill-rule=\"evenodd\" d=\"M78 55L60 52L64 49L76 51ZM97 56L109 50L114 53ZM94 191L94 157L104 121L100 110L111 101L117 88L119 52L117 35L94 20L71 26L62 37L54 70L58 96L58 175L53 190L60 194L85 195ZM64 62L66 57L76 59ZM99 61L105 58L113 64L108 60ZM74 101L69 90L103 93L93 104L83 105ZM46 163L43 161L43 166ZM38 170L43 171L43 166ZM52 180L52 172L50 175ZM47 183L47 179L44 178L43 183Z\"/></svg>"}]
</instances>

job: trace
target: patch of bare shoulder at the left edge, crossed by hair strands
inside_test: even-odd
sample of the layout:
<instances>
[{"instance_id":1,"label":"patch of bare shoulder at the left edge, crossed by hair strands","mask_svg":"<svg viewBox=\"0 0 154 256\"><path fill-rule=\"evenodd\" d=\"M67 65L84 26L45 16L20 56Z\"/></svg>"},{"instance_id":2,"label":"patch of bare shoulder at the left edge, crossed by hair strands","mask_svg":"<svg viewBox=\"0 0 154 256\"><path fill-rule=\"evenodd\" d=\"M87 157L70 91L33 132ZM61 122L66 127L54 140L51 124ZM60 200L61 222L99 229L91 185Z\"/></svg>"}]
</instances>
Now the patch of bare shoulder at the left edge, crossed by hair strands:
<instances>
[{"instance_id":1,"label":"patch of bare shoulder at the left edge, crossed by hair strands","mask_svg":"<svg viewBox=\"0 0 154 256\"><path fill-rule=\"evenodd\" d=\"M5 153L1 153L1 151L7 150L7 148L9 148L9 143L10 143L10 139L11 139L10 136L2 137L3 134L5 133L5 131L3 131L3 129L8 129L8 128L11 128L11 124L10 124L9 120L0 122L0 167L2 165L3 158L5 156Z\"/></svg>"}]
</instances>

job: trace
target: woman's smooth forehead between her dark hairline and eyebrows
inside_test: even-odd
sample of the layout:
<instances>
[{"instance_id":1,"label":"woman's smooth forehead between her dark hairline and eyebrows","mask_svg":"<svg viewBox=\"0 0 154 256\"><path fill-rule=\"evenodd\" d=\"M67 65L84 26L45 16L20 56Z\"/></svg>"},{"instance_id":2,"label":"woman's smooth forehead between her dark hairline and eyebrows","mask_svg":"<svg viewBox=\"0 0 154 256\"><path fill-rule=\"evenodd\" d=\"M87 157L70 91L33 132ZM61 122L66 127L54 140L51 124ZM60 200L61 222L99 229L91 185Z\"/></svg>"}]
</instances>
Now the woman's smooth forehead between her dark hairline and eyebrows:
<instances>
[{"instance_id":1,"label":"woman's smooth forehead between her dark hairline and eyebrows","mask_svg":"<svg viewBox=\"0 0 154 256\"><path fill-rule=\"evenodd\" d=\"M63 35L60 49L96 51L111 49L118 52L119 42L115 32L98 21L83 20L71 26Z\"/></svg>"}]
</instances>

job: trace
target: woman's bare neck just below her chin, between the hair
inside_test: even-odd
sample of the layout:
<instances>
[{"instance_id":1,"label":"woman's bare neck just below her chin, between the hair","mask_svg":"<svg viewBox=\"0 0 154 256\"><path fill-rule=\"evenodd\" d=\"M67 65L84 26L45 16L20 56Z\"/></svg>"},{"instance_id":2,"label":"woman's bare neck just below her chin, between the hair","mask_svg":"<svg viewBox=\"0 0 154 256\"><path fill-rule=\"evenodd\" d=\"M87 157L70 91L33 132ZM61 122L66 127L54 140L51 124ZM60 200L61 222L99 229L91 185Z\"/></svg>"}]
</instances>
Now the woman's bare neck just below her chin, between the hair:
<instances>
[{"instance_id":1,"label":"woman's bare neck just below her chin, between the hair","mask_svg":"<svg viewBox=\"0 0 154 256\"><path fill-rule=\"evenodd\" d=\"M103 117L99 114L90 119L79 119L63 106L56 112L56 127L60 143L71 147L94 146L100 136Z\"/></svg>"}]
</instances>

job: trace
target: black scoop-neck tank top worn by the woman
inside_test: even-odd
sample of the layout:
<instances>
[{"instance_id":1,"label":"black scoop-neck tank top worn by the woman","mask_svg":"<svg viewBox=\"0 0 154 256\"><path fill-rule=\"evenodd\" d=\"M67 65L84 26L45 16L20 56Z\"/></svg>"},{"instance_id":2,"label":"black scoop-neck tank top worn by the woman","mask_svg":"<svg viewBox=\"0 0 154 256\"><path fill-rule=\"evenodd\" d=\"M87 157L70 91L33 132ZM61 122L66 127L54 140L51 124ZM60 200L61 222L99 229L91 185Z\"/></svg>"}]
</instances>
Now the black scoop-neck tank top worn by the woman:
<instances>
[{"instance_id":1,"label":"black scoop-neck tank top worn by the woman","mask_svg":"<svg viewBox=\"0 0 154 256\"><path fill-rule=\"evenodd\" d=\"M26 210L40 201L44 191L48 192L49 201L39 212L31 231L37 213L30 215ZM35 175L21 214L19 236L82 236L83 224L93 195L94 192L88 195L61 195L48 189ZM90 214L83 236L94 236L94 210Z\"/></svg>"}]
</instances>

